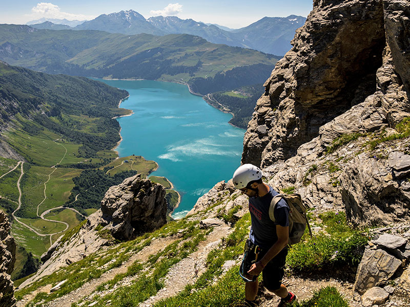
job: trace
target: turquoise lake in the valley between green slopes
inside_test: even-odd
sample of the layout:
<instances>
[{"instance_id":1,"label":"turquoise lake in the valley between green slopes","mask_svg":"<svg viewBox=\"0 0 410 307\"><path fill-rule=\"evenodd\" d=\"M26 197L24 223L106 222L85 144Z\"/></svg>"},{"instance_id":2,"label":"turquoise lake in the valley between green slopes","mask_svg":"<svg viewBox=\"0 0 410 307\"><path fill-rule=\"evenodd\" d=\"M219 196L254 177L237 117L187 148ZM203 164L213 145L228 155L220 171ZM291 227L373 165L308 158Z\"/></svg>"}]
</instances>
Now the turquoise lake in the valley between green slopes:
<instances>
[{"instance_id":1,"label":"turquoise lake in the valley between green slopes","mask_svg":"<svg viewBox=\"0 0 410 307\"><path fill-rule=\"evenodd\" d=\"M174 218L185 216L217 182L232 178L245 132L228 124L232 115L182 84L99 80L130 93L121 107L134 113L118 118L122 141L116 150L120 157L143 156L158 163L152 175L167 177L181 195Z\"/></svg>"}]
</instances>

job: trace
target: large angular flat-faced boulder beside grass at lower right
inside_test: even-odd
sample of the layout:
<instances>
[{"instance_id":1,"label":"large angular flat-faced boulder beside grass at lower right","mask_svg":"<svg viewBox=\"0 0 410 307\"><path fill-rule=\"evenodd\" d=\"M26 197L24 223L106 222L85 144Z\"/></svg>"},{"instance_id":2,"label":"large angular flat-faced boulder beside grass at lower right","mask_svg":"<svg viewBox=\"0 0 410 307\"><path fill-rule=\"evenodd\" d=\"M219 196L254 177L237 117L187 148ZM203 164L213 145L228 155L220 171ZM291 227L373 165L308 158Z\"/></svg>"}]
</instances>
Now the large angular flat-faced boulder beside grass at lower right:
<instances>
[{"instance_id":1,"label":"large angular flat-faced boulder beside grass at lower right","mask_svg":"<svg viewBox=\"0 0 410 307\"><path fill-rule=\"evenodd\" d=\"M396 273L401 263L399 259L383 250L366 248L357 268L355 291L363 294L368 289L384 285Z\"/></svg>"}]
</instances>

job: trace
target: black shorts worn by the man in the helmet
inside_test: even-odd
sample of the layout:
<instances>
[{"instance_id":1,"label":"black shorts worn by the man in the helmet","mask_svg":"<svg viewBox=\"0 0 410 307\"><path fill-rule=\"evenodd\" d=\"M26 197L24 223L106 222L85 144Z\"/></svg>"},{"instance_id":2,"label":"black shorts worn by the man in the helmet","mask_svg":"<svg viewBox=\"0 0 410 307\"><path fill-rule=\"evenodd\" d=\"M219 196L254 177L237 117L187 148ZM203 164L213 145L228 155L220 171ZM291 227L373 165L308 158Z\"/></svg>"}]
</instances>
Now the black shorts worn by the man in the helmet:
<instances>
[{"instance_id":1,"label":"black shorts worn by the man in the helmet","mask_svg":"<svg viewBox=\"0 0 410 307\"><path fill-rule=\"evenodd\" d=\"M267 249L261 250L261 252L258 254L257 260L262 259L267 251ZM272 291L278 290L280 288L280 285L282 284L282 278L285 274L284 267L286 262L286 255L288 255L287 247L281 250L279 254L277 254L271 261L269 261L262 270L263 286L268 290ZM255 257L255 249L253 248L249 251L249 256L247 259L249 268L252 265L252 261L255 260Z\"/></svg>"}]
</instances>

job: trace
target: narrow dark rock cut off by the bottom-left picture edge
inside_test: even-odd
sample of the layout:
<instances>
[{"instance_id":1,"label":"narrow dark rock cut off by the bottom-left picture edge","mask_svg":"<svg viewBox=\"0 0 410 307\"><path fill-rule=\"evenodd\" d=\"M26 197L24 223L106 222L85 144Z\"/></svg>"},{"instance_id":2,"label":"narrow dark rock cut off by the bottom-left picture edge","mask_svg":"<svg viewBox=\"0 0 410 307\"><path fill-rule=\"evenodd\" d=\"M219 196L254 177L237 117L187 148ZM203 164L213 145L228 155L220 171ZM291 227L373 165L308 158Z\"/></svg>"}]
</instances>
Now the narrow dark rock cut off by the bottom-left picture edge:
<instances>
[{"instance_id":1,"label":"narrow dark rock cut off by the bottom-left picture edge","mask_svg":"<svg viewBox=\"0 0 410 307\"><path fill-rule=\"evenodd\" d=\"M10 278L16 260L16 244L10 230L7 214L0 210L0 307L13 306L16 301L13 281Z\"/></svg>"}]
</instances>

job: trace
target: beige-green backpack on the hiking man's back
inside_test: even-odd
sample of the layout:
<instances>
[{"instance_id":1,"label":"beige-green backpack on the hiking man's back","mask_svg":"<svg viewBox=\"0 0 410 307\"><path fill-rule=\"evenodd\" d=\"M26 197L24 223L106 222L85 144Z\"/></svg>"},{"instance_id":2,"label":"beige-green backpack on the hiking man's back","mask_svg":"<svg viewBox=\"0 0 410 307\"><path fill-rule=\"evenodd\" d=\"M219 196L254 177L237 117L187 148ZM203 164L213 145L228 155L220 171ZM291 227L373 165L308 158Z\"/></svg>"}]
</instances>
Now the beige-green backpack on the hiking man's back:
<instances>
[{"instance_id":1,"label":"beige-green backpack on the hiking man's back","mask_svg":"<svg viewBox=\"0 0 410 307\"><path fill-rule=\"evenodd\" d=\"M273 212L275 211L278 202L284 199L289 206L289 245L293 245L300 242L302 235L306 229L306 225L309 229L309 234L312 237L311 227L309 225L308 217L306 216L306 210L310 208L307 204L303 204L302 198L299 194L277 194L271 201L269 207L269 217L275 222Z\"/></svg>"}]
</instances>

